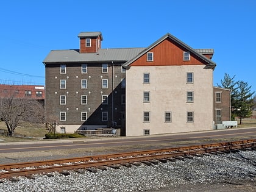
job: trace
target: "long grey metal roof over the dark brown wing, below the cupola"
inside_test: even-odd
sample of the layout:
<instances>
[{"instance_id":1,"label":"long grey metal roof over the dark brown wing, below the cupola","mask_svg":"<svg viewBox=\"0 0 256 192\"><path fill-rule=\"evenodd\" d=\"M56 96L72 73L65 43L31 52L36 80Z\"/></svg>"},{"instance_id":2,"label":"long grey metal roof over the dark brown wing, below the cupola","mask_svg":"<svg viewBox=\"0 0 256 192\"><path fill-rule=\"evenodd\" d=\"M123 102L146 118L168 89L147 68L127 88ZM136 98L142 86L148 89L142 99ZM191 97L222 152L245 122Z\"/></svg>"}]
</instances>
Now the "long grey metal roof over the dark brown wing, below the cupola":
<instances>
[{"instance_id":1,"label":"long grey metal roof over the dark brown wing, below the cupola","mask_svg":"<svg viewBox=\"0 0 256 192\"><path fill-rule=\"evenodd\" d=\"M127 62L145 48L99 49L97 53L79 53L77 49L53 50L43 63L82 63L82 62Z\"/></svg>"}]
</instances>

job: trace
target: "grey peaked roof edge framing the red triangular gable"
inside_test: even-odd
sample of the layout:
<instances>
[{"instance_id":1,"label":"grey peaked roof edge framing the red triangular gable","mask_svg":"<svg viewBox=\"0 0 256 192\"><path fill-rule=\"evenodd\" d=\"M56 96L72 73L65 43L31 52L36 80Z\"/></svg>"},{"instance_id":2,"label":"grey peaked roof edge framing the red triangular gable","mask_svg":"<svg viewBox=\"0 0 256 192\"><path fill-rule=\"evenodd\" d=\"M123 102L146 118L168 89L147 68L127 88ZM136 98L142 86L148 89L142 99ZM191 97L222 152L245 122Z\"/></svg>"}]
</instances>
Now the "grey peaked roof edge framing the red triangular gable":
<instances>
[{"instance_id":1,"label":"grey peaked roof edge framing the red triangular gable","mask_svg":"<svg viewBox=\"0 0 256 192\"><path fill-rule=\"evenodd\" d=\"M190 51L191 53L193 53L194 55L197 55L197 57L201 58L202 60L204 60L205 62L208 63L208 67L209 68L215 68L216 63L213 62L212 60L208 59L207 57L205 57L204 55L202 55L201 53L199 53L198 51L196 51L196 49L191 48L190 46L188 46L187 44L183 43L182 41L180 41L178 38L174 37L171 34L166 34L164 35L162 38L160 38L159 40L155 41L155 43L152 43L150 46L148 46L148 48L146 48L143 52L141 52L140 54L138 54L136 57L134 57L133 59L129 60L128 62L124 63L123 66L129 66L131 63L133 63L135 60L137 60L138 58L140 58L142 55L146 54L146 52L148 52L150 49L154 48L155 46L157 46L158 44L162 43L162 41L166 40L167 38L170 38L171 40L173 40L174 42L176 42L177 44L179 44L180 46L182 46L183 48L187 49L188 51ZM197 50L201 50L201 49L197 49ZM210 51L210 50L207 50Z\"/></svg>"}]
</instances>

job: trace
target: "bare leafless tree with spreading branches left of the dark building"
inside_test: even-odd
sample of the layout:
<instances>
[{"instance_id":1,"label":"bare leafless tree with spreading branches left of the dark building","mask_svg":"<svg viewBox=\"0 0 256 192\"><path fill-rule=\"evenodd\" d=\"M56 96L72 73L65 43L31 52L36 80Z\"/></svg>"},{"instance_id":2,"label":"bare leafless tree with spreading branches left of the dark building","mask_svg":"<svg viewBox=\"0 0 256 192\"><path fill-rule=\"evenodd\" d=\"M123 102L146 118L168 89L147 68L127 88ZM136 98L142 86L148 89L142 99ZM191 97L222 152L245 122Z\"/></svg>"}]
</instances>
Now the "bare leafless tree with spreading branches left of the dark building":
<instances>
[{"instance_id":1,"label":"bare leafless tree with spreading branches left of the dark building","mask_svg":"<svg viewBox=\"0 0 256 192\"><path fill-rule=\"evenodd\" d=\"M44 108L36 99L28 98L1 98L0 118L5 122L9 135L14 135L14 130L21 121L43 123Z\"/></svg>"}]
</instances>

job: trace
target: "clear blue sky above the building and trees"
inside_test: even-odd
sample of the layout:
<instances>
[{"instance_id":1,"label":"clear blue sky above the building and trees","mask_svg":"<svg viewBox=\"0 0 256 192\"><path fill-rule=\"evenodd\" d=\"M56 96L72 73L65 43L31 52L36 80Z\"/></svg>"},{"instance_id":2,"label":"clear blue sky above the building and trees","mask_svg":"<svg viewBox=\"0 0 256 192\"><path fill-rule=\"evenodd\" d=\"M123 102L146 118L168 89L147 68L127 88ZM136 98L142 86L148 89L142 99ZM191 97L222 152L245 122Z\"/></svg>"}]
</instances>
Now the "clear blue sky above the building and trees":
<instances>
[{"instance_id":1,"label":"clear blue sky above the building and trees","mask_svg":"<svg viewBox=\"0 0 256 192\"><path fill-rule=\"evenodd\" d=\"M144 48L170 33L213 48L214 85L227 73L256 91L254 0L9 0L0 2L0 84L44 85L43 60L101 31L102 48Z\"/></svg>"}]
</instances>

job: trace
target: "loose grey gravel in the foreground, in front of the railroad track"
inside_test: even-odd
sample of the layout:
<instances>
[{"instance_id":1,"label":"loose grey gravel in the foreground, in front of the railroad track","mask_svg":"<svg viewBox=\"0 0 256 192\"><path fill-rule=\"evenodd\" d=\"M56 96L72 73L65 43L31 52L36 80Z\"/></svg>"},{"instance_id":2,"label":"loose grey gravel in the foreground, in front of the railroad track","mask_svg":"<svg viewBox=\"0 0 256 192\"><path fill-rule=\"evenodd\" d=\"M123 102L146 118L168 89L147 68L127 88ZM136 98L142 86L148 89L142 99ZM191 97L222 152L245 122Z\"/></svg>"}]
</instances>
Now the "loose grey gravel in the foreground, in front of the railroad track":
<instances>
[{"instance_id":1,"label":"loose grey gravel in the foreground, in front of the railroad track","mask_svg":"<svg viewBox=\"0 0 256 192\"><path fill-rule=\"evenodd\" d=\"M256 191L256 152L208 154L158 165L2 179L0 191Z\"/></svg>"}]
</instances>

